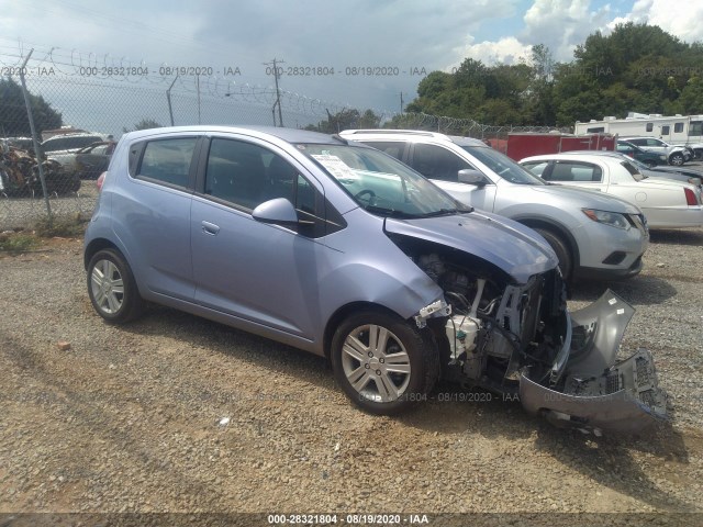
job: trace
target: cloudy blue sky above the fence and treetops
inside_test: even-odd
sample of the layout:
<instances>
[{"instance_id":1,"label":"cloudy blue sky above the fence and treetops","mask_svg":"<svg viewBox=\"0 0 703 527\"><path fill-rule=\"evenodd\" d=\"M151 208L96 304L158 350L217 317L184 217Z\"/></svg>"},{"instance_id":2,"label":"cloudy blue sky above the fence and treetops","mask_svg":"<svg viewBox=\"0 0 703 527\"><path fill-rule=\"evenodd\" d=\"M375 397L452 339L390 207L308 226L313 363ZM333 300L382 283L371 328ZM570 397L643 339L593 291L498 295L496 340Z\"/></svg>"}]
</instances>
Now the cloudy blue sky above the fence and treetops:
<instances>
[{"instance_id":1,"label":"cloudy blue sky above the fence and treetops","mask_svg":"<svg viewBox=\"0 0 703 527\"><path fill-rule=\"evenodd\" d=\"M389 110L401 93L404 102L416 96L423 72L450 71L467 57L512 64L535 44L568 61L589 34L617 22L703 40L703 0L0 0L0 66L35 47L34 57L72 63L72 71L208 67L209 89L224 94L272 86L265 64L277 58L290 74L283 90ZM295 67L321 75L288 70Z\"/></svg>"}]
</instances>

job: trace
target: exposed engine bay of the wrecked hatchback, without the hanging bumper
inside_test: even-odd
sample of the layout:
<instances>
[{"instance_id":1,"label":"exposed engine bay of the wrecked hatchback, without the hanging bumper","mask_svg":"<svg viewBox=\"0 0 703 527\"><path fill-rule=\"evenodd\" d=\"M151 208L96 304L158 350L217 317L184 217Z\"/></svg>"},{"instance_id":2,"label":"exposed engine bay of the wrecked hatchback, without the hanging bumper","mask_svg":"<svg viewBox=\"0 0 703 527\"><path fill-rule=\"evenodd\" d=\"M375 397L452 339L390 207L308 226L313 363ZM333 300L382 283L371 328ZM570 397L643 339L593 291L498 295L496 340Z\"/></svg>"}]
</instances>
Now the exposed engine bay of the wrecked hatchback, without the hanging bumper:
<instances>
[{"instance_id":1,"label":"exposed engine bay of the wrecked hatchback, without the hanging bumper","mask_svg":"<svg viewBox=\"0 0 703 527\"><path fill-rule=\"evenodd\" d=\"M465 384L501 392L517 391L525 367L543 381L551 377L569 333L566 295L556 270L525 285L511 285L504 276L492 276L489 269L471 273L436 253L419 256L416 264L451 306L444 324L448 371L460 370Z\"/></svg>"}]
</instances>

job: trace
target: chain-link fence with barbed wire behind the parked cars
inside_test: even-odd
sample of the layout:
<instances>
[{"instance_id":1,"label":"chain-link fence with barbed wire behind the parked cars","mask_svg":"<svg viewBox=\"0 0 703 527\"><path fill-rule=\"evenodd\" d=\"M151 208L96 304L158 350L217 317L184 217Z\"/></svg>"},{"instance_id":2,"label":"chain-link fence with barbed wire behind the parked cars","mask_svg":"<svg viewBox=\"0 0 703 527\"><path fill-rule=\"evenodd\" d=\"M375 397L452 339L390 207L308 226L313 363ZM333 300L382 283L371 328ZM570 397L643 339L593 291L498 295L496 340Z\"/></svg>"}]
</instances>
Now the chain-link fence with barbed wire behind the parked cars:
<instances>
[{"instance_id":1,"label":"chain-link fence with barbed wire behind the parked cars","mask_svg":"<svg viewBox=\"0 0 703 527\"><path fill-rule=\"evenodd\" d=\"M52 51L38 55L0 48L0 229L55 215L88 216L94 179L108 167L113 141L127 131L199 123L305 127L349 110L208 75L208 68L155 70L62 60ZM375 112L380 126L480 138L545 130Z\"/></svg>"}]
</instances>

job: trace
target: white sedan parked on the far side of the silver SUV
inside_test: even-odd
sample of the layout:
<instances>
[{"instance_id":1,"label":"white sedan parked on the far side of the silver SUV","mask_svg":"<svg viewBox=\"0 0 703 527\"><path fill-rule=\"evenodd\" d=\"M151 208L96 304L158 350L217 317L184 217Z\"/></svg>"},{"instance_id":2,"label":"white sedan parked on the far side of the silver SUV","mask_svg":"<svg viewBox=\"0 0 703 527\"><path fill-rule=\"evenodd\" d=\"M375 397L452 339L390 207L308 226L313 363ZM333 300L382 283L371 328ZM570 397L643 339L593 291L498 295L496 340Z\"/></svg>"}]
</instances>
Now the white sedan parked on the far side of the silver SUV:
<instances>
[{"instance_id":1,"label":"white sedan parked on the far side of the silver SUV","mask_svg":"<svg viewBox=\"0 0 703 527\"><path fill-rule=\"evenodd\" d=\"M520 164L553 183L598 190L641 209L650 228L703 225L698 187L680 181L646 179L635 165L610 156L549 154L526 157Z\"/></svg>"}]
</instances>

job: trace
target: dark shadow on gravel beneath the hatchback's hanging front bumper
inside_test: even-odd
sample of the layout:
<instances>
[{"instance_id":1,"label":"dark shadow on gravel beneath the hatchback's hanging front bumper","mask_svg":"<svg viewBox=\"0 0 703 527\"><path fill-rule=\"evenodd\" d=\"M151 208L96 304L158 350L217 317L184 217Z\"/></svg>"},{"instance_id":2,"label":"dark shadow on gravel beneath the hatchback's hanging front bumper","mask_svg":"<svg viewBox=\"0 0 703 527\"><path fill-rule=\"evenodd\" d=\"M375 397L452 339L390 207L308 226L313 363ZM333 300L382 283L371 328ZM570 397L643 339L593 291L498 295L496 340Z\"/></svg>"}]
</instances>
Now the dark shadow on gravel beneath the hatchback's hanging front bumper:
<instances>
[{"instance_id":1,"label":"dark shadow on gravel beneath the hatchback's hanging front bumper","mask_svg":"<svg viewBox=\"0 0 703 527\"><path fill-rule=\"evenodd\" d=\"M438 392L439 390L439 392ZM596 437L577 429L557 428L539 416L527 414L516 400L492 396L492 401L461 401L462 391L442 384L431 401L416 412L398 417L410 427L437 435L465 437L462 448L486 448L495 439L522 440L550 456L563 467L618 493L657 508L696 512L695 506L662 492L652 481L637 452L648 456L648 464L689 464L689 451L681 433L670 423L660 423L638 434L605 434ZM439 402L442 399L449 402ZM637 482L633 484L633 482Z\"/></svg>"}]
</instances>

